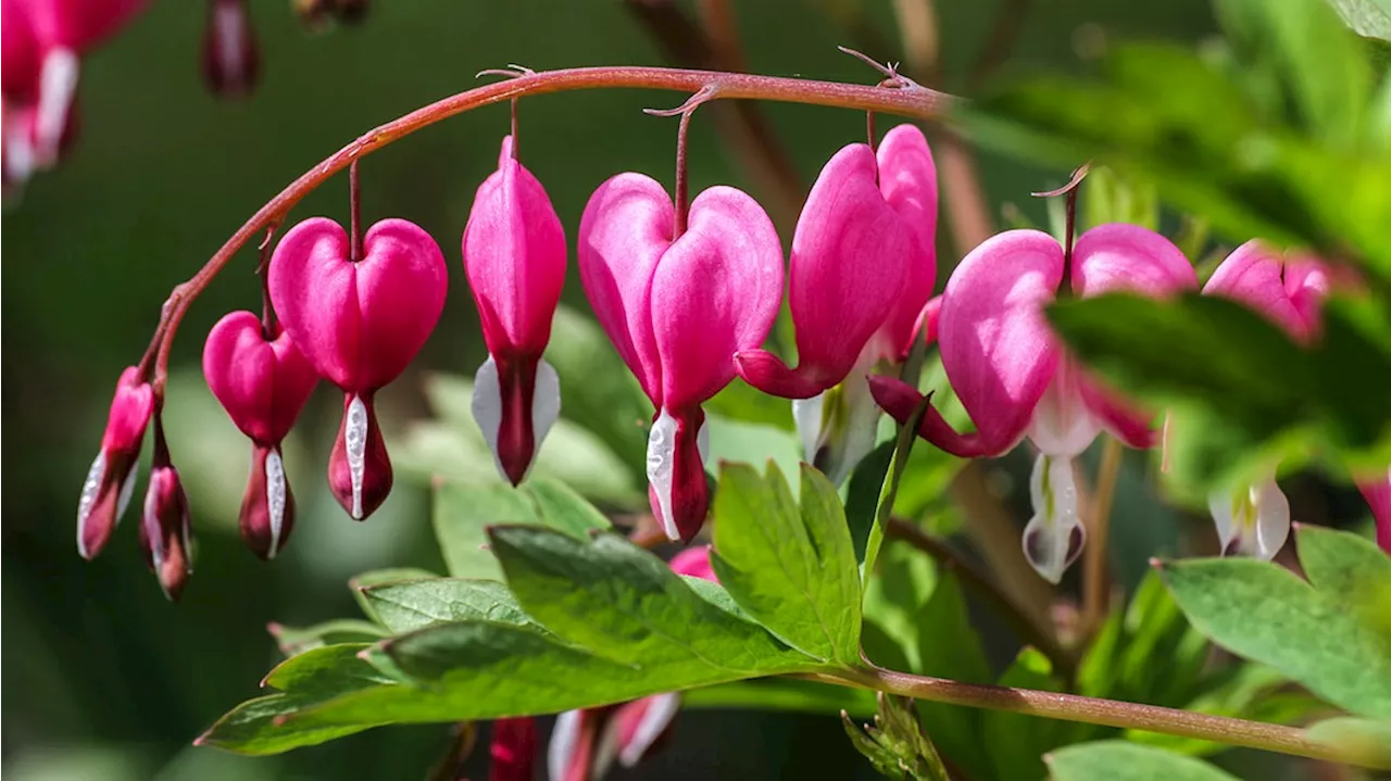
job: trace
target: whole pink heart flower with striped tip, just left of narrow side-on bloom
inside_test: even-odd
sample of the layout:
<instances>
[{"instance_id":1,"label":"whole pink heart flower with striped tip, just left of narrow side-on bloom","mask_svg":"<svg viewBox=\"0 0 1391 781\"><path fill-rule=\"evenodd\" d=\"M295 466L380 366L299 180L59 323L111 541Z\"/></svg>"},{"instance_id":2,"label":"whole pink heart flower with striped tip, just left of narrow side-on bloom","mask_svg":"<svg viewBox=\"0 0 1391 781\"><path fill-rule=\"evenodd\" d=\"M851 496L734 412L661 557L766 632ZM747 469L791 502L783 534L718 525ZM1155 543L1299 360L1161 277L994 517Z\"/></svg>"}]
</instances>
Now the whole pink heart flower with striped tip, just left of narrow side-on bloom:
<instances>
[{"instance_id":1,"label":"whole pink heart flower with striped tip, just left of narrow side-on bloom","mask_svg":"<svg viewBox=\"0 0 1391 781\"><path fill-rule=\"evenodd\" d=\"M356 520L391 492L391 460L373 396L420 352L444 310L440 246L405 220L383 220L351 257L348 233L316 217L295 225L270 261L270 297L291 340L344 392L328 485Z\"/></svg>"}]
</instances>

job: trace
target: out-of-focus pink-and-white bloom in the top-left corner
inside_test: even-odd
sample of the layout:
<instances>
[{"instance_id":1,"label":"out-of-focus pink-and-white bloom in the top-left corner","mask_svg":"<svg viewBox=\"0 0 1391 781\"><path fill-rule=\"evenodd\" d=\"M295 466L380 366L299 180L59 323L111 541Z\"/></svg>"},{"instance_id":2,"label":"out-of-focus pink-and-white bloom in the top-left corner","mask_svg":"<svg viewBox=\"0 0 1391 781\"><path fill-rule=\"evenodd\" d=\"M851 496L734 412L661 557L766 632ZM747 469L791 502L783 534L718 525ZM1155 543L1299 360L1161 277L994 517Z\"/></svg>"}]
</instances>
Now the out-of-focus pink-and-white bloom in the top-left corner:
<instances>
[{"instance_id":1,"label":"out-of-focus pink-and-white bloom in the top-left corner","mask_svg":"<svg viewBox=\"0 0 1391 781\"><path fill-rule=\"evenodd\" d=\"M0 0L3 178L22 182L51 167L71 136L79 57L146 0Z\"/></svg>"}]
</instances>

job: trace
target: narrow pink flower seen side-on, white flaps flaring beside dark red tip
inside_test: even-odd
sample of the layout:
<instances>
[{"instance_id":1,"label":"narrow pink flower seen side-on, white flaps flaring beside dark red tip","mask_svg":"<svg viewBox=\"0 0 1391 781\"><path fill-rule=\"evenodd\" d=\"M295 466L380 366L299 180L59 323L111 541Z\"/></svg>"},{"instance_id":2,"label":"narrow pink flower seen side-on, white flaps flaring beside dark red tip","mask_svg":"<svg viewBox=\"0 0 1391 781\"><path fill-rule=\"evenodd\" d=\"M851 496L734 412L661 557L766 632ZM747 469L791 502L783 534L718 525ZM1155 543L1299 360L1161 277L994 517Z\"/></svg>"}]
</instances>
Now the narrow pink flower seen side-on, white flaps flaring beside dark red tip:
<instances>
[{"instance_id":1,"label":"narrow pink flower seen side-on, white flaps flaring beside dark red tip","mask_svg":"<svg viewBox=\"0 0 1391 781\"><path fill-rule=\"evenodd\" d=\"M565 229L545 188L513 157L512 136L473 200L463 270L488 345L473 417L498 471L517 485L561 414L561 379L541 353L565 283Z\"/></svg>"}]
</instances>

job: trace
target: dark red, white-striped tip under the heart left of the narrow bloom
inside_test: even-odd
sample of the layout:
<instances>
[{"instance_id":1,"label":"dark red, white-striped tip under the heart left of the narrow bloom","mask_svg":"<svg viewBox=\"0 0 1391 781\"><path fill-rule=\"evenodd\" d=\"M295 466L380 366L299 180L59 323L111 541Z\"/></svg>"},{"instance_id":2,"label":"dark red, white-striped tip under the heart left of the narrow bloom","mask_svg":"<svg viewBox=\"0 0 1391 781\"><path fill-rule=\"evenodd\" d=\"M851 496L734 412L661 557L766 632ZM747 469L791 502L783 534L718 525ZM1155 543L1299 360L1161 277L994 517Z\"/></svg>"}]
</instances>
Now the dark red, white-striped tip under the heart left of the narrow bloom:
<instances>
[{"instance_id":1,"label":"dark red, white-striped tip under the heart left of the narrow bloom","mask_svg":"<svg viewBox=\"0 0 1391 781\"><path fill-rule=\"evenodd\" d=\"M328 456L328 488L356 521L377 511L391 493L391 459L371 396L344 396L344 421Z\"/></svg>"}]
</instances>

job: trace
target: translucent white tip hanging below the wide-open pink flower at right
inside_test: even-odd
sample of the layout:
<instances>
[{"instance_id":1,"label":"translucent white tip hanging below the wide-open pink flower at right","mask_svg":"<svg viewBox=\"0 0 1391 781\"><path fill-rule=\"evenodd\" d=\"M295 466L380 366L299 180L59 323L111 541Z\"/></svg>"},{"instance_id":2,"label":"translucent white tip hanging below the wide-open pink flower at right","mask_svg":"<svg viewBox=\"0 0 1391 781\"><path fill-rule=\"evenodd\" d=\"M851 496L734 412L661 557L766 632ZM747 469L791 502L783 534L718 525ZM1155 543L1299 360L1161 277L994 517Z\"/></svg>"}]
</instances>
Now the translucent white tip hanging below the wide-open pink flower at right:
<instances>
[{"instance_id":1,"label":"translucent white tip hanging below the wide-open pink flower at right","mask_svg":"<svg viewBox=\"0 0 1391 781\"><path fill-rule=\"evenodd\" d=\"M1057 584L1086 545L1086 529L1077 516L1072 459L1039 454L1029 496L1034 517L1024 527L1024 556L1043 579Z\"/></svg>"}]
</instances>

